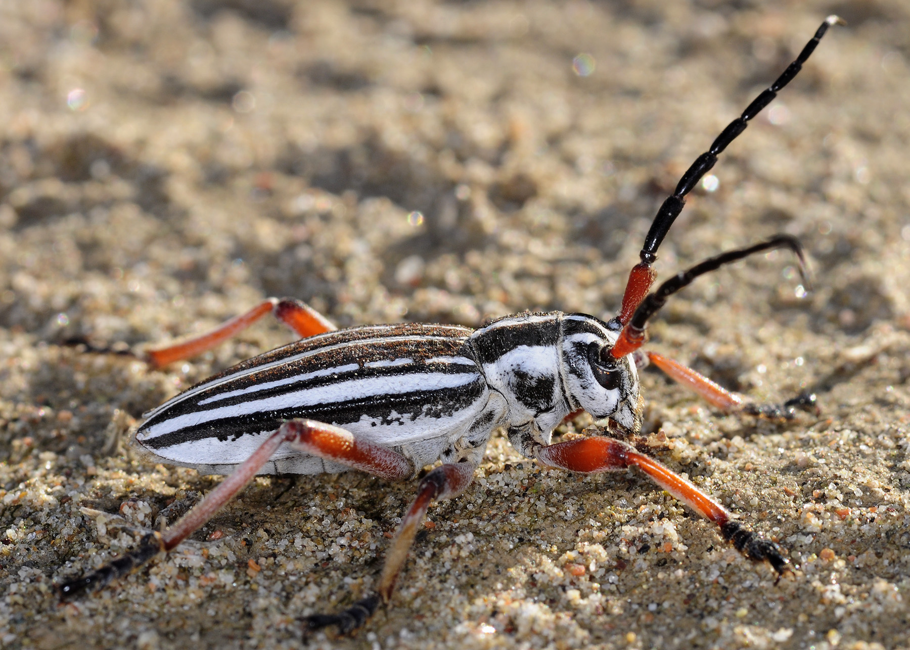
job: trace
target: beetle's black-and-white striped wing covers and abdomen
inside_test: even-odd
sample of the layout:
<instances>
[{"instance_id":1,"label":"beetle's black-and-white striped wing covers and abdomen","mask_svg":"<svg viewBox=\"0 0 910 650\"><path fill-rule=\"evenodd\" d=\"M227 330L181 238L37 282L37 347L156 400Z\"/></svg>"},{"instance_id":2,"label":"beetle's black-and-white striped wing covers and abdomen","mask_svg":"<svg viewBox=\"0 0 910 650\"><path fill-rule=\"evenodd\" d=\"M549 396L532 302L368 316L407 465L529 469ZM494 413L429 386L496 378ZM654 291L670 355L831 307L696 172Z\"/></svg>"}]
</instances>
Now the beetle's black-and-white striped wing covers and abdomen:
<instances>
[{"instance_id":1,"label":"beetle's black-and-white striped wing covers and abdomen","mask_svg":"<svg viewBox=\"0 0 910 650\"><path fill-rule=\"evenodd\" d=\"M235 465L262 435L306 417L380 445L442 438L444 446L487 403L468 335L461 327L381 325L313 336L177 395L148 414L136 440L171 462ZM273 458L292 461L280 471L322 471L289 447Z\"/></svg>"}]
</instances>

